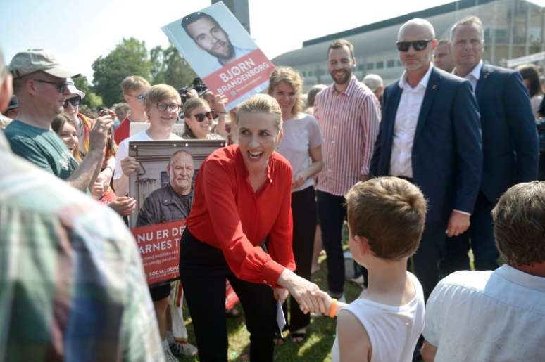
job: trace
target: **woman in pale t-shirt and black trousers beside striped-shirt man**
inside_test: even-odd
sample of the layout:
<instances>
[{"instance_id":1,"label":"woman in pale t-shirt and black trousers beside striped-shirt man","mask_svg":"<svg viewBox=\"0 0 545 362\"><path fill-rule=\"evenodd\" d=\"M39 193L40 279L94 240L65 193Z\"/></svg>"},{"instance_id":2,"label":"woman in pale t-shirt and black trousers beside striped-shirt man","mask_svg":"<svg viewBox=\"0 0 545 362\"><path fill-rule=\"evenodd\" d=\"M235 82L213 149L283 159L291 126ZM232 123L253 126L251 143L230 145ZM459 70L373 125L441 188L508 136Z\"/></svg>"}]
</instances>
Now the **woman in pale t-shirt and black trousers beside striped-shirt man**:
<instances>
[{"instance_id":1,"label":"woman in pale t-shirt and black trousers beside striped-shirt man","mask_svg":"<svg viewBox=\"0 0 545 362\"><path fill-rule=\"evenodd\" d=\"M277 151L292 165L294 175L291 206L294 224L292 245L297 265L295 273L310 279L316 231L314 176L323 166L322 134L318 121L312 115L301 112L302 89L301 76L290 67L277 67L270 75L268 93L280 105L284 121L284 137ZM284 306L284 314L288 321L287 306ZM309 323L311 317L301 311L293 297L290 298L287 327L292 342L305 340ZM282 344L282 338L278 336L275 342Z\"/></svg>"}]
</instances>

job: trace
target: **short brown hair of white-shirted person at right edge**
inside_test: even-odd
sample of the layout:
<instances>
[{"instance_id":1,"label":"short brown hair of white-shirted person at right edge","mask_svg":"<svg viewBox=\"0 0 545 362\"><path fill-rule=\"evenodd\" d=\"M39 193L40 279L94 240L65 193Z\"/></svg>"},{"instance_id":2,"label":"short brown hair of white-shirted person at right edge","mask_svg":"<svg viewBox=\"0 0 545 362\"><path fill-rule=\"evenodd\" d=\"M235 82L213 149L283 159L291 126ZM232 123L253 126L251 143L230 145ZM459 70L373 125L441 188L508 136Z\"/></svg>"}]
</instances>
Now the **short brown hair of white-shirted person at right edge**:
<instances>
[{"instance_id":1,"label":"short brown hair of white-shirted person at right edge","mask_svg":"<svg viewBox=\"0 0 545 362\"><path fill-rule=\"evenodd\" d=\"M545 182L518 183L492 210L501 257L511 266L545 261Z\"/></svg>"}]
</instances>

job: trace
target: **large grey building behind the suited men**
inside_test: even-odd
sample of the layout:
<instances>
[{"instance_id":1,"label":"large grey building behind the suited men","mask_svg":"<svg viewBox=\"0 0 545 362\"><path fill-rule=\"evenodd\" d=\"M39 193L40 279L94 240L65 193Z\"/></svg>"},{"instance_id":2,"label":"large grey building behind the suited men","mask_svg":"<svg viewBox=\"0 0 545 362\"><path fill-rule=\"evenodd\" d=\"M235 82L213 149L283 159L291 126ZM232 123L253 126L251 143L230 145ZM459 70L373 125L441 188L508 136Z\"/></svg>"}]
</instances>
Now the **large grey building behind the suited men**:
<instances>
[{"instance_id":1,"label":"large grey building behind the suited men","mask_svg":"<svg viewBox=\"0 0 545 362\"><path fill-rule=\"evenodd\" d=\"M396 49L403 22L424 18L434 26L437 39L443 39L449 37L454 22L468 15L477 15L483 22L483 60L487 63L506 66L510 59L545 51L543 7L526 0L461 0L308 40L303 48L277 56L272 63L299 70L305 90L329 84L327 46L334 39L347 39L356 49L356 77L375 73L389 84L403 72Z\"/></svg>"}]
</instances>

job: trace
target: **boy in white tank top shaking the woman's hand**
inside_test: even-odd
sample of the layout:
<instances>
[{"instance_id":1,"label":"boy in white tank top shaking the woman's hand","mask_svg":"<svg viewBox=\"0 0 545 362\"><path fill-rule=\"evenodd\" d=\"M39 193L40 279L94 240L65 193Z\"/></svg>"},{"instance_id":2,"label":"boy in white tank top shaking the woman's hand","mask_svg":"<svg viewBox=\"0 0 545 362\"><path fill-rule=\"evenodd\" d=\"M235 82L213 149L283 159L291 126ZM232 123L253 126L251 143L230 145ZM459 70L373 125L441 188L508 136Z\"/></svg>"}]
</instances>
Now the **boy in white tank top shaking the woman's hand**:
<instances>
[{"instance_id":1,"label":"boy in white tank top shaking the woman's hand","mask_svg":"<svg viewBox=\"0 0 545 362\"><path fill-rule=\"evenodd\" d=\"M350 251L368 269L369 287L351 304L320 292L322 313L338 316L332 361L412 361L425 304L407 259L424 231L424 196L408 181L380 177L353 186L346 206Z\"/></svg>"}]
</instances>

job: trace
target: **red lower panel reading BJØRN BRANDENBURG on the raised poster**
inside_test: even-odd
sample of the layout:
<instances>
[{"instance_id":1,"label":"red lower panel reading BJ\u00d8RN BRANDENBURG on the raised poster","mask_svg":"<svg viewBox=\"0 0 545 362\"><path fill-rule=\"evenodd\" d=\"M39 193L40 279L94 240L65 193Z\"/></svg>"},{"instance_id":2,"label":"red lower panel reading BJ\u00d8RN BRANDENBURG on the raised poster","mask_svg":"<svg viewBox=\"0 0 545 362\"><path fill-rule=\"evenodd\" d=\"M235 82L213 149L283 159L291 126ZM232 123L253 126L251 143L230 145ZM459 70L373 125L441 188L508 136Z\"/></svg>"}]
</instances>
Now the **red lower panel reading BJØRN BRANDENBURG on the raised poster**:
<instances>
[{"instance_id":1,"label":"red lower panel reading BJ\u00d8RN BRANDENBURG on the raised poster","mask_svg":"<svg viewBox=\"0 0 545 362\"><path fill-rule=\"evenodd\" d=\"M273 70L275 66L263 51L256 49L204 77L203 81L213 93L224 94L227 103L231 103L263 82L268 82Z\"/></svg>"}]
</instances>

